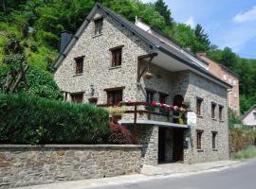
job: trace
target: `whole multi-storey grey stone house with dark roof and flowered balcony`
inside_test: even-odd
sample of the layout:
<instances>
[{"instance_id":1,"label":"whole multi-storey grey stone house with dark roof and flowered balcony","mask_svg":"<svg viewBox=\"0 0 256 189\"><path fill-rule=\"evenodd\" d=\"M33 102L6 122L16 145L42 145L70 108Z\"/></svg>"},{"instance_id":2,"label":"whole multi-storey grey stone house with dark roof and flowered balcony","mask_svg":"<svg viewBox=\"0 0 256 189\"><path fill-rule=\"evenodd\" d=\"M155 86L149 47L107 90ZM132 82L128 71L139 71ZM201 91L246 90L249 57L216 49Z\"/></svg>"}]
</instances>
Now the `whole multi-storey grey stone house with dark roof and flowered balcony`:
<instances>
[{"instance_id":1,"label":"whole multi-storey grey stone house with dark roof and flowered balcony","mask_svg":"<svg viewBox=\"0 0 256 189\"><path fill-rule=\"evenodd\" d=\"M153 31L96 3L53 66L64 99L97 97L101 106L123 101L120 123L137 136L143 163L229 159L231 86L213 76L206 61ZM163 107L153 106L157 102Z\"/></svg>"}]
</instances>

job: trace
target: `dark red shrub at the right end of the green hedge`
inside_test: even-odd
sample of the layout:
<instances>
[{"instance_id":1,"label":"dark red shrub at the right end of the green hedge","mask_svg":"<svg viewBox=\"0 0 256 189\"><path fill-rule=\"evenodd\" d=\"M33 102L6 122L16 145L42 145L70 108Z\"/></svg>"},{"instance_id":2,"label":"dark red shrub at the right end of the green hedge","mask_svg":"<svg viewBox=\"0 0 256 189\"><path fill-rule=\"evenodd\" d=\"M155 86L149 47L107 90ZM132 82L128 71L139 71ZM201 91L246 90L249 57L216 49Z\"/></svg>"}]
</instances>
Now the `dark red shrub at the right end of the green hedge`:
<instances>
[{"instance_id":1,"label":"dark red shrub at the right end of the green hedge","mask_svg":"<svg viewBox=\"0 0 256 189\"><path fill-rule=\"evenodd\" d=\"M131 132L119 125L119 123L111 123L110 124L111 134L108 138L108 142L110 144L115 145L133 145L133 136Z\"/></svg>"}]
</instances>

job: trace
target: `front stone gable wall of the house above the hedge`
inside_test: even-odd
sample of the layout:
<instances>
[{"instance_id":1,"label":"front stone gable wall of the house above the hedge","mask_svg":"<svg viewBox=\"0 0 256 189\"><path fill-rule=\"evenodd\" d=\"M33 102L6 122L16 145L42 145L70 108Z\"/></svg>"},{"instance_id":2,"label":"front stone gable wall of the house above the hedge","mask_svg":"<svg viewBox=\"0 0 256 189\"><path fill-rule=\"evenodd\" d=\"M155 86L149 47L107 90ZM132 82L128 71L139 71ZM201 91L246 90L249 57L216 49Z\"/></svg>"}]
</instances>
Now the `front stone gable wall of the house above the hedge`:
<instances>
[{"instance_id":1,"label":"front stone gable wall of the house above the hedge","mask_svg":"<svg viewBox=\"0 0 256 189\"><path fill-rule=\"evenodd\" d=\"M87 102L91 94L90 85L93 84L99 98L98 104L106 104L107 94L104 89L123 86L123 100L137 101L137 57L150 53L151 48L101 11L94 17L100 16L104 16L102 34L94 35L94 22L91 21L56 71L54 78L61 90L68 92L68 100L70 94L82 92L83 101ZM123 45L122 63L120 66L111 67L110 49L119 45ZM83 73L75 75L74 58L81 56L84 56Z\"/></svg>"}]
</instances>

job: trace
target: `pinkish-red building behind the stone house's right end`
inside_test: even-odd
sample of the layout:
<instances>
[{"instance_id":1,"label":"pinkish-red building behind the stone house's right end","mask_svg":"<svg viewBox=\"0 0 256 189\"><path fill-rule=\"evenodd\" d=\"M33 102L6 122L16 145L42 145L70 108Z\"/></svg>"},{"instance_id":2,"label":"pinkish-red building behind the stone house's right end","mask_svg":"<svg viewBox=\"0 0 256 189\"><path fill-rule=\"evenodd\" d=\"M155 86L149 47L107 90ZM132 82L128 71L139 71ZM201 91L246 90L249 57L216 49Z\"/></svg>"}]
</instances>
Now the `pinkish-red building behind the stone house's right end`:
<instances>
[{"instance_id":1,"label":"pinkish-red building behind the stone house's right end","mask_svg":"<svg viewBox=\"0 0 256 189\"><path fill-rule=\"evenodd\" d=\"M226 66L217 63L216 61L210 60L206 56L206 53L197 53L197 56L209 63L209 71L216 77L220 77L222 80L232 85L232 88L228 91L228 103L229 108L240 115L240 104L239 104L239 76L233 73Z\"/></svg>"}]
</instances>

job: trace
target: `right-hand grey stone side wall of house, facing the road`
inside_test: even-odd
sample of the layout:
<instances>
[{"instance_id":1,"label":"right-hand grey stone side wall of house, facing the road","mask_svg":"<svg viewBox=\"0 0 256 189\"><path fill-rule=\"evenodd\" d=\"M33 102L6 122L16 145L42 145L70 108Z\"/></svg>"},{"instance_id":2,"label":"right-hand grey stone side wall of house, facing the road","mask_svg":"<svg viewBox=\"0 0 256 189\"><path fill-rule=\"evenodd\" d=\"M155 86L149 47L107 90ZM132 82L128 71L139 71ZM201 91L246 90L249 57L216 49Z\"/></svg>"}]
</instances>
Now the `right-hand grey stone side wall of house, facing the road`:
<instances>
[{"instance_id":1,"label":"right-hand grey stone side wall of house, facing the road","mask_svg":"<svg viewBox=\"0 0 256 189\"><path fill-rule=\"evenodd\" d=\"M185 98L190 99L192 111L196 111L196 96L203 98L202 116L197 116L197 126L187 135L192 139L185 150L186 163L201 163L229 159L229 128L227 89L190 72L190 85ZM216 118L211 118L211 102L217 104ZM223 120L219 120L218 106L222 105ZM196 148L196 129L202 129L202 150ZM211 132L217 131L216 149L211 146Z\"/></svg>"}]
</instances>

